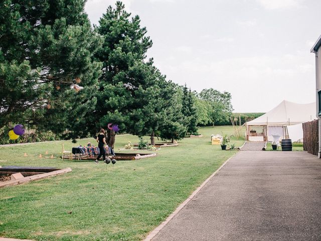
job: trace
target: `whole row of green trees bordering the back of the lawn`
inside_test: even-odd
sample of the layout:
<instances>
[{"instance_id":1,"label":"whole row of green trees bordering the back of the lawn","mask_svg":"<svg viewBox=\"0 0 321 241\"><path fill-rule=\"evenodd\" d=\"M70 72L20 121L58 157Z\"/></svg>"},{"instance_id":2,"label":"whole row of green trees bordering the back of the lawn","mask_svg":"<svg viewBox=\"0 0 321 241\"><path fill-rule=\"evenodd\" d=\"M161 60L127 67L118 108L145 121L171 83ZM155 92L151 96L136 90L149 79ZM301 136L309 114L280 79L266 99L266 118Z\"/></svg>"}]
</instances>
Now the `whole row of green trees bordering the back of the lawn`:
<instances>
[{"instance_id":1,"label":"whole row of green trees bordering the back of the lawn","mask_svg":"<svg viewBox=\"0 0 321 241\"><path fill-rule=\"evenodd\" d=\"M139 16L121 2L91 27L83 0L4 0L0 8L0 129L20 123L62 138L122 132L163 140L228 121L231 94L167 80L146 59ZM113 146L115 133L108 129Z\"/></svg>"}]
</instances>

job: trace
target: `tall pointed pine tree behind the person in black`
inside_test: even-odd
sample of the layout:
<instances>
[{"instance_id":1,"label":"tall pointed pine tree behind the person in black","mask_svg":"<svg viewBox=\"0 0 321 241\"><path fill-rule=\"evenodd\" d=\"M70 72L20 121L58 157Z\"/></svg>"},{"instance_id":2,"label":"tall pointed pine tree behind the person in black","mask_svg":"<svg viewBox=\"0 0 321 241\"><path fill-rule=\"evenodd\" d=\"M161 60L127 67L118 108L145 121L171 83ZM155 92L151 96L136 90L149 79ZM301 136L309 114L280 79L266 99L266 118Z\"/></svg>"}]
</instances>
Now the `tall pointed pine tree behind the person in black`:
<instances>
[{"instance_id":1,"label":"tall pointed pine tree behind the person in black","mask_svg":"<svg viewBox=\"0 0 321 241\"><path fill-rule=\"evenodd\" d=\"M97 53L103 62L99 81L95 116L101 127L118 124L120 129L138 136L151 135L164 119L161 98L165 76L152 60L145 62L146 51L152 42L145 36L146 28L140 27L140 19L124 10L117 2L108 7L99 20L96 31L104 37L104 44ZM108 143L114 144L114 132L108 130Z\"/></svg>"}]
</instances>

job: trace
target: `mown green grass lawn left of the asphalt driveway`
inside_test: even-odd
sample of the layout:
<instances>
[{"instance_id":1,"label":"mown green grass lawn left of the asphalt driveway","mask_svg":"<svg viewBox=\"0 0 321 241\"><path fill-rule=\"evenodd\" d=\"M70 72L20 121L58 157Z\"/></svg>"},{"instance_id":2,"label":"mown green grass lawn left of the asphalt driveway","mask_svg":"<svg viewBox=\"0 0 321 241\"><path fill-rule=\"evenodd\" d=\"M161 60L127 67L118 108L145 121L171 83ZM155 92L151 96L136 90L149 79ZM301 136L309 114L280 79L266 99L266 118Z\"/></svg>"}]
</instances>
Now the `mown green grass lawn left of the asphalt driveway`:
<instances>
[{"instance_id":1,"label":"mown green grass lawn left of the asphalt driveway","mask_svg":"<svg viewBox=\"0 0 321 241\"><path fill-rule=\"evenodd\" d=\"M0 236L35 240L140 240L164 221L236 151L212 146L211 134L233 135L232 127L208 127L203 138L186 138L157 157L98 165L92 161L39 158L61 156L62 142L1 147L2 166L47 166L72 172L0 189ZM147 137L146 137L147 139ZM65 149L94 139L64 141ZM131 135L116 137L115 149ZM244 140L231 138L241 146ZM132 151L131 151L132 152ZM24 157L24 153L28 156ZM107 168L106 168L107 167ZM71 212L71 213L70 213Z\"/></svg>"}]
</instances>

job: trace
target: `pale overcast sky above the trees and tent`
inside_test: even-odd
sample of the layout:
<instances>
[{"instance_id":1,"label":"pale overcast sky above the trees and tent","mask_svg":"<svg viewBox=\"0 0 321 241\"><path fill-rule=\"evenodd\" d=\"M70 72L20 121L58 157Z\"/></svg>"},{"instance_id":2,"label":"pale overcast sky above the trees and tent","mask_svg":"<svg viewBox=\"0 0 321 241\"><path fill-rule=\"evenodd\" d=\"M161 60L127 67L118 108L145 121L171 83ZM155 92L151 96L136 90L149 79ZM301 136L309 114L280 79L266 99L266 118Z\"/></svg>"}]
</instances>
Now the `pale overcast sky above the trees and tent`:
<instances>
[{"instance_id":1,"label":"pale overcast sky above the trees and tent","mask_svg":"<svg viewBox=\"0 0 321 241\"><path fill-rule=\"evenodd\" d=\"M87 0L92 24L116 1ZM228 91L234 112L315 102L319 0L124 0L153 46L147 58L178 84Z\"/></svg>"}]
</instances>

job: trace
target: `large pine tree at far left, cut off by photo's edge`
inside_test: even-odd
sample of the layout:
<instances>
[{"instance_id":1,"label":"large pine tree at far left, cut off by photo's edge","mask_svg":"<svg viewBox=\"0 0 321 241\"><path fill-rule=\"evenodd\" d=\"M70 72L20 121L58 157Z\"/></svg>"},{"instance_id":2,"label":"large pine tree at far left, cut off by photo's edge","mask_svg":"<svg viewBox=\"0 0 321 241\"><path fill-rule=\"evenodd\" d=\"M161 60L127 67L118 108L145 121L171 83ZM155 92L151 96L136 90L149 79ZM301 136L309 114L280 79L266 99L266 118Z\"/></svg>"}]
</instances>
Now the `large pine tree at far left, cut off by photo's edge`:
<instances>
[{"instance_id":1,"label":"large pine tree at far left, cut off by photo's edge","mask_svg":"<svg viewBox=\"0 0 321 241\"><path fill-rule=\"evenodd\" d=\"M93 109L102 39L83 0L5 0L0 8L0 127L74 131ZM77 84L77 85L75 85ZM82 87L78 87L78 85ZM72 89L71 86L75 86Z\"/></svg>"}]
</instances>

